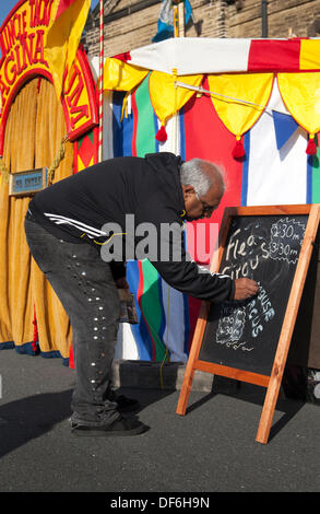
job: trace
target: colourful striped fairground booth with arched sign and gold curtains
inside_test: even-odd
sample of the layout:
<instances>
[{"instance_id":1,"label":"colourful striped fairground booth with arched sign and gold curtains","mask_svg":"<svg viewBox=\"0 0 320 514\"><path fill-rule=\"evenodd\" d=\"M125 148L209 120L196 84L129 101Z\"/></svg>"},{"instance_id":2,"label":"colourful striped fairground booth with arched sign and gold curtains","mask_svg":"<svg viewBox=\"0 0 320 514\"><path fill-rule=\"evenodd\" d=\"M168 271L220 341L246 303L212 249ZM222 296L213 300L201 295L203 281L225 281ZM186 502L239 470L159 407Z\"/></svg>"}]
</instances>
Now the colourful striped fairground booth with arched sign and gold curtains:
<instances>
[{"instance_id":1,"label":"colourful striped fairground booth with arched sign and gold curtains","mask_svg":"<svg viewBox=\"0 0 320 514\"><path fill-rule=\"evenodd\" d=\"M215 162L223 201L211 220L186 225L191 257L209 265L210 222L220 224L225 207L320 202L320 40L173 37L103 60L80 46L58 100L46 58L51 4L21 0L0 30L0 348L72 367L69 319L25 241L34 191L114 156L169 151ZM186 363L201 302L149 260L129 261L127 280L139 323L120 324L116 359ZM306 331L295 373L317 402L316 316Z\"/></svg>"}]
</instances>

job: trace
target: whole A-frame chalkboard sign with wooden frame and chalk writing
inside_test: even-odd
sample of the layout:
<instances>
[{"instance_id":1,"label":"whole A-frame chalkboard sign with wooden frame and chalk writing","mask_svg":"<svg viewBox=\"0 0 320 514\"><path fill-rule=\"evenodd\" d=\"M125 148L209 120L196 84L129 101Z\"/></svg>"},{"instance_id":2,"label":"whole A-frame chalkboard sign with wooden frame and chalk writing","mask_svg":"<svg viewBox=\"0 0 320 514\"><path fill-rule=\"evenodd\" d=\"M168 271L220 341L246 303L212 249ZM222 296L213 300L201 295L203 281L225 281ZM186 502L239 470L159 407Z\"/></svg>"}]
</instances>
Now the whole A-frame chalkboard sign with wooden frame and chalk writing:
<instances>
[{"instance_id":1,"label":"whole A-frame chalkboard sign with wooden frame and chalk writing","mask_svg":"<svg viewBox=\"0 0 320 514\"><path fill-rule=\"evenodd\" d=\"M186 413L194 370L261 385L268 392L257 441L268 442L318 231L319 208L225 210L218 271L234 279L252 278L260 289L245 302L202 302L177 413Z\"/></svg>"}]
</instances>

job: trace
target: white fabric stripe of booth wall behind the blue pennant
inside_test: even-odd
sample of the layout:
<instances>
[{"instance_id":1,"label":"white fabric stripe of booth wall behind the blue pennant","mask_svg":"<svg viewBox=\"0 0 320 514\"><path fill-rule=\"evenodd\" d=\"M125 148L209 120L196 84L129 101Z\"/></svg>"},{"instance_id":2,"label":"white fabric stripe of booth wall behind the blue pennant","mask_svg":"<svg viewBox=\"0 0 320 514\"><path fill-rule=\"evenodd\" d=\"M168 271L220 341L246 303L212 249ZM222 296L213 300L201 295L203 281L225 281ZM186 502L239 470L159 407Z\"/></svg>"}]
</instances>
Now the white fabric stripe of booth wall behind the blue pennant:
<instances>
[{"instance_id":1,"label":"white fabric stripe of booth wall behind the blue pennant","mask_svg":"<svg viewBox=\"0 0 320 514\"><path fill-rule=\"evenodd\" d=\"M275 83L269 103L270 109L281 102ZM278 149L274 116L271 110L261 116L245 137L246 159L241 190L244 206L306 203L310 196L306 138L306 131L297 127Z\"/></svg>"}]
</instances>

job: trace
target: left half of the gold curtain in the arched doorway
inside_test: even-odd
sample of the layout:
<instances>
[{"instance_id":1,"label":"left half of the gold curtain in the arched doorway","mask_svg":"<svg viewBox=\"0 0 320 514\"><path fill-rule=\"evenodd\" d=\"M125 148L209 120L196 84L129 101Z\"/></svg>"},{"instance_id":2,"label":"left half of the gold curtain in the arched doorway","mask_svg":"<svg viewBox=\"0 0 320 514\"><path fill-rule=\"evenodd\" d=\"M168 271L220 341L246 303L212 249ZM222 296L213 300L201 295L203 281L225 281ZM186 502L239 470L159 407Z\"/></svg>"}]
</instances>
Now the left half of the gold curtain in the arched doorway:
<instances>
[{"instance_id":1,"label":"left half of the gold curtain in the arched doorway","mask_svg":"<svg viewBox=\"0 0 320 514\"><path fill-rule=\"evenodd\" d=\"M5 130L3 160L12 173L34 167L36 83L27 84L12 105ZM27 136L27 132L31 132ZM29 253L23 219L27 199L9 198L8 184L0 190L0 334L1 342L17 344L33 340L33 305Z\"/></svg>"}]
</instances>

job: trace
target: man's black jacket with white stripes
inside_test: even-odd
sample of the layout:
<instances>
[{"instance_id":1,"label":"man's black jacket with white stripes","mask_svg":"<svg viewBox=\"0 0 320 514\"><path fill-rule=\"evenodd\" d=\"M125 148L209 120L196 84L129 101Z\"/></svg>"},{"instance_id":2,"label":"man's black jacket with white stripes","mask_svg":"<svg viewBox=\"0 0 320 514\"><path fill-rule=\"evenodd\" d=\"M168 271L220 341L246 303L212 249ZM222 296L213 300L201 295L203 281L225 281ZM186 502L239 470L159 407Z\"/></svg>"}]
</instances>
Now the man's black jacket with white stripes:
<instances>
[{"instance_id":1,"label":"man's black jacket with white stripes","mask_svg":"<svg viewBox=\"0 0 320 514\"><path fill-rule=\"evenodd\" d=\"M102 250L105 260L110 258L111 243L116 260L121 260L128 258L128 248L129 258L141 258L139 252L132 255L133 242L135 247L138 245L139 248L140 243L140 248L145 249L151 241L142 232L138 235L135 230L134 238L130 236L132 233L127 231L126 214L131 214L131 220L134 215L134 227L140 226L140 231L143 229L141 223L152 223L156 229L157 244L149 258L169 285L201 300L233 300L234 281L230 277L204 271L186 256L183 233L178 229L183 225L185 215L179 176L181 163L179 156L168 152L147 154L144 159L111 159L37 192L29 210L48 232L64 241L90 243ZM116 225L110 231L111 223ZM164 223L174 224L176 237L162 232ZM178 236L181 259L171 254L173 248L177 249L174 241ZM166 243L167 246L163 246ZM121 256L117 249L120 247ZM166 259L161 253L164 247ZM122 262L111 265L115 278L123 274L122 266Z\"/></svg>"}]
</instances>

